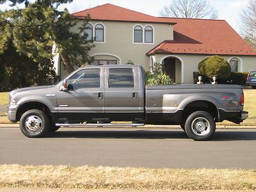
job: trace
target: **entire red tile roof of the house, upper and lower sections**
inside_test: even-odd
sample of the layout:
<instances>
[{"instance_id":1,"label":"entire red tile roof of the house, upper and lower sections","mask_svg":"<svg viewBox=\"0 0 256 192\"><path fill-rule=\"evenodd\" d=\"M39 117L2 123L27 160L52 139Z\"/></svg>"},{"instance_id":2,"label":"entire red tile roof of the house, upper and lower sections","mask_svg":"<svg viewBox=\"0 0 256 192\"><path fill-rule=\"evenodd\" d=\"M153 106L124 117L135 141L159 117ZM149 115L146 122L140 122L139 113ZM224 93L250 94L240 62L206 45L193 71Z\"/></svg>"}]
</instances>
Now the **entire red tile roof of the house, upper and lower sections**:
<instances>
[{"instance_id":1,"label":"entire red tile roof of the house, upper and lower sections","mask_svg":"<svg viewBox=\"0 0 256 192\"><path fill-rule=\"evenodd\" d=\"M79 19L84 19L87 15L92 20L175 24L174 40L164 40L148 51L147 55L161 53L256 56L256 51L225 20L153 17L109 3L72 14Z\"/></svg>"}]
</instances>

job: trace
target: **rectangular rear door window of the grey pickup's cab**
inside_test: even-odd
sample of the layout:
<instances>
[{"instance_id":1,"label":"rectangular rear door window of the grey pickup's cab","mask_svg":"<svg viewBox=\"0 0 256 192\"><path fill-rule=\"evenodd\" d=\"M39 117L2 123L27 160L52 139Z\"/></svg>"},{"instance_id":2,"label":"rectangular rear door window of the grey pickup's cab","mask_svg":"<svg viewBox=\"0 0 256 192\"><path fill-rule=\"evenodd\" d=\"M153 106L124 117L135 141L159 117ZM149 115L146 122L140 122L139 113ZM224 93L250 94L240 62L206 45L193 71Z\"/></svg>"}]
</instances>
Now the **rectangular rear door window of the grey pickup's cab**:
<instances>
[{"instance_id":1,"label":"rectangular rear door window of the grey pickup's cab","mask_svg":"<svg viewBox=\"0 0 256 192\"><path fill-rule=\"evenodd\" d=\"M134 77L132 68L110 68L109 88L133 88Z\"/></svg>"}]
</instances>

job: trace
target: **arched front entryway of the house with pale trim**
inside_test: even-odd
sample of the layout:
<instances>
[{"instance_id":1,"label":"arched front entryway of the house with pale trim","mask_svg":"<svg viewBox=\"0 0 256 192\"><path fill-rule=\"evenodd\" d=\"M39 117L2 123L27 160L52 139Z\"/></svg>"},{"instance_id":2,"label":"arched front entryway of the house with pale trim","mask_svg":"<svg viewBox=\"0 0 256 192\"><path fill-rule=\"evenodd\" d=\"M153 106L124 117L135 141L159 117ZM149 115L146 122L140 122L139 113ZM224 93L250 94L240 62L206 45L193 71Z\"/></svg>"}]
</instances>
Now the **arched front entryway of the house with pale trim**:
<instances>
[{"instance_id":1,"label":"arched front entryway of the house with pale trim","mask_svg":"<svg viewBox=\"0 0 256 192\"><path fill-rule=\"evenodd\" d=\"M160 61L166 73L173 79L175 83L184 83L184 62L181 58L174 55L168 55Z\"/></svg>"}]
</instances>

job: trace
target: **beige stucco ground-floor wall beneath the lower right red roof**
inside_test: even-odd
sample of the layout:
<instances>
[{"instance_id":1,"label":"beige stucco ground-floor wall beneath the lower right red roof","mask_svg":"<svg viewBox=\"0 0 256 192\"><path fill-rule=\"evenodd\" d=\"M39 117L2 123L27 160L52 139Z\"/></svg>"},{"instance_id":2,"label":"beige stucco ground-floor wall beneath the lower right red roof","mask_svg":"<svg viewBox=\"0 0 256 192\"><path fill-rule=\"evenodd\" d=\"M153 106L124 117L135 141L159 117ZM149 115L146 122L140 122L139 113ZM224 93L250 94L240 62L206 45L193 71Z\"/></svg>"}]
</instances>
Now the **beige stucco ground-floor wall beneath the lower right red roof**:
<instances>
[{"instance_id":1,"label":"beige stucco ground-floor wall beneath the lower right red roof","mask_svg":"<svg viewBox=\"0 0 256 192\"><path fill-rule=\"evenodd\" d=\"M161 62L164 58L173 56L179 58L181 61L180 74L182 83L193 83L193 72L197 71L198 63L202 61L206 55L195 55L195 54L156 54L156 62ZM239 61L238 70L239 72L249 72L256 70L256 56L221 56L225 60L230 61L231 59L237 59ZM184 70L182 74L182 68ZM176 64L176 82L179 83L179 77L177 77L179 70Z\"/></svg>"}]
</instances>

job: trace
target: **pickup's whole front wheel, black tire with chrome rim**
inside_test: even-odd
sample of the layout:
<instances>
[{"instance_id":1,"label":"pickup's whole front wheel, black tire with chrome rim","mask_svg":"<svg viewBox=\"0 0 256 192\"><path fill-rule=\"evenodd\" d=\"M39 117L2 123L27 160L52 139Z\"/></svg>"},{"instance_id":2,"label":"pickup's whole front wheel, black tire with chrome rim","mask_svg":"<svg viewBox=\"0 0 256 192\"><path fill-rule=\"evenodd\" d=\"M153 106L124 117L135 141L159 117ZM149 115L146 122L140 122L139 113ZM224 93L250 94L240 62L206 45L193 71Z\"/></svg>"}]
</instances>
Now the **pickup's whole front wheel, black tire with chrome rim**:
<instances>
[{"instance_id":1,"label":"pickup's whole front wheel, black tire with chrome rim","mask_svg":"<svg viewBox=\"0 0 256 192\"><path fill-rule=\"evenodd\" d=\"M43 111L32 109L20 118L20 130L28 138L41 138L49 131L49 118Z\"/></svg>"}]
</instances>

